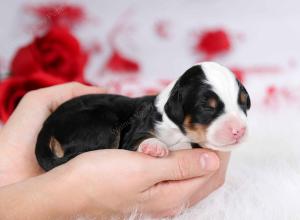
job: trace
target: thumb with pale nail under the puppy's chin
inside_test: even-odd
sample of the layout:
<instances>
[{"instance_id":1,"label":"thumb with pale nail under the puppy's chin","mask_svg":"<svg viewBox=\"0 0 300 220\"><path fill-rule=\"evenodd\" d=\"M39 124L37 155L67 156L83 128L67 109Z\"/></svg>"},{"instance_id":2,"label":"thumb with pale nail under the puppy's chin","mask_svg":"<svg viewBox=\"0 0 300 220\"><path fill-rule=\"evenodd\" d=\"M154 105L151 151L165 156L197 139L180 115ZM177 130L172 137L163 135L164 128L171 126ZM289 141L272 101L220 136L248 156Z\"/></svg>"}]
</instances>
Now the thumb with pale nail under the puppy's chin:
<instances>
[{"instance_id":1,"label":"thumb with pale nail under the puppy's chin","mask_svg":"<svg viewBox=\"0 0 300 220\"><path fill-rule=\"evenodd\" d=\"M153 158L153 180L184 180L216 171L220 166L216 153L206 149L173 151L168 157Z\"/></svg>"}]
</instances>

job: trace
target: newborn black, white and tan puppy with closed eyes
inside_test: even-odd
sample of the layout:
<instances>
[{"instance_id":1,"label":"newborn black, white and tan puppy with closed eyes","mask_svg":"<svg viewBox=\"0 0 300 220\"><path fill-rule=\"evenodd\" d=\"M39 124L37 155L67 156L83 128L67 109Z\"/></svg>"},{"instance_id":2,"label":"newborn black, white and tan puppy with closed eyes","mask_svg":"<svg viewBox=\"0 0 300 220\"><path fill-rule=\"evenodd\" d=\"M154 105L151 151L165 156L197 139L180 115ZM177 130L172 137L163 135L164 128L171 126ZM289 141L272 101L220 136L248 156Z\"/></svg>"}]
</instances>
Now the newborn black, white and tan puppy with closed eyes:
<instances>
[{"instance_id":1,"label":"newborn black, white and tan puppy with closed eyes","mask_svg":"<svg viewBox=\"0 0 300 220\"><path fill-rule=\"evenodd\" d=\"M233 73L213 62L192 66L157 96L85 95L45 121L36 145L50 170L86 151L126 149L154 157L169 150L231 150L247 132L250 98Z\"/></svg>"}]
</instances>

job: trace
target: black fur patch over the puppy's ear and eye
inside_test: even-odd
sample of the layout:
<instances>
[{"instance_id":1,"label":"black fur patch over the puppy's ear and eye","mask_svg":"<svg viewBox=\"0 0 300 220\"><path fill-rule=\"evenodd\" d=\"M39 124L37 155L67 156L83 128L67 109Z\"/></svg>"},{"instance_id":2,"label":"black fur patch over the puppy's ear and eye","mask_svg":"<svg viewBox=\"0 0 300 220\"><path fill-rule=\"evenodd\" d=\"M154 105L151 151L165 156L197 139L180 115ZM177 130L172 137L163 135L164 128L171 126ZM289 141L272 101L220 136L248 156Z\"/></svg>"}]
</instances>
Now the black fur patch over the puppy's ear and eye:
<instances>
[{"instance_id":1,"label":"black fur patch over the puppy's ear and eye","mask_svg":"<svg viewBox=\"0 0 300 220\"><path fill-rule=\"evenodd\" d=\"M223 102L205 81L202 68L193 66L179 78L171 91L165 112L182 132L185 132L183 120L187 115L192 117L192 123L209 125L223 113ZM216 108L209 107L209 98L217 100Z\"/></svg>"}]
</instances>

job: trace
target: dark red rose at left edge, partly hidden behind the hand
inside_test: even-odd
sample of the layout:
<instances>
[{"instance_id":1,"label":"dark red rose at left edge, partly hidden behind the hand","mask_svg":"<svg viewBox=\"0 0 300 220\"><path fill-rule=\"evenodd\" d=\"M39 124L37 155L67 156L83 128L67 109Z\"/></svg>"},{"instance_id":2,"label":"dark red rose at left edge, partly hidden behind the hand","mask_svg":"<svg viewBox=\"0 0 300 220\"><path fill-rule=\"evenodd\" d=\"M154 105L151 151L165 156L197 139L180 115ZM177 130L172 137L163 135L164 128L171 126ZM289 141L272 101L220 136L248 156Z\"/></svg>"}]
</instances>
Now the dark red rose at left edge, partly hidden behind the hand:
<instances>
[{"instance_id":1,"label":"dark red rose at left edge, partly hidden behind the hand","mask_svg":"<svg viewBox=\"0 0 300 220\"><path fill-rule=\"evenodd\" d=\"M30 90L65 83L62 78L44 72L29 76L14 76L0 83L0 119L7 121L21 98Z\"/></svg>"}]
</instances>

